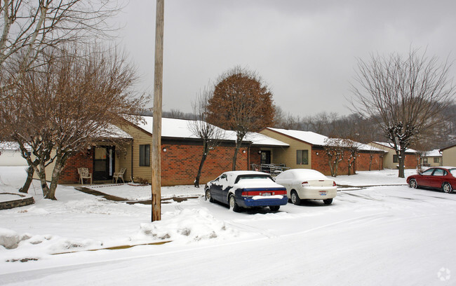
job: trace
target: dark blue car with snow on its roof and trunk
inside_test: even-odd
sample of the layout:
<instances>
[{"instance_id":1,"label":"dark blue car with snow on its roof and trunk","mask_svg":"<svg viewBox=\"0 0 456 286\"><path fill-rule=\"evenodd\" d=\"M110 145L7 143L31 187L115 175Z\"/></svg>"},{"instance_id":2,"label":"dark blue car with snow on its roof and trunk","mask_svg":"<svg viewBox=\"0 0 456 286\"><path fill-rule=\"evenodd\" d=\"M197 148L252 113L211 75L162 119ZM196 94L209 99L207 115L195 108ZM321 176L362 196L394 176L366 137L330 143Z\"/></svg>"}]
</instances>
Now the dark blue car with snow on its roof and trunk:
<instances>
[{"instance_id":1,"label":"dark blue car with snow on its roof and trunk","mask_svg":"<svg viewBox=\"0 0 456 286\"><path fill-rule=\"evenodd\" d=\"M271 175L255 171L230 171L210 181L204 188L206 200L229 205L234 212L242 207L269 207L272 211L286 205L286 189Z\"/></svg>"}]
</instances>

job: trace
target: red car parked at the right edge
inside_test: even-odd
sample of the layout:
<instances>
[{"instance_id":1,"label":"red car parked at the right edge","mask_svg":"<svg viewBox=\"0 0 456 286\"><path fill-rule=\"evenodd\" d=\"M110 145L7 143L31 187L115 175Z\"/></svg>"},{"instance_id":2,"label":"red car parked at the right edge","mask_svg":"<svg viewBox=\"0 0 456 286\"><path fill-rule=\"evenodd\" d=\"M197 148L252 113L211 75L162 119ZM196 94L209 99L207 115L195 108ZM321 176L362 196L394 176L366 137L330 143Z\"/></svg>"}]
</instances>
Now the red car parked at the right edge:
<instances>
[{"instance_id":1,"label":"red car parked at the right edge","mask_svg":"<svg viewBox=\"0 0 456 286\"><path fill-rule=\"evenodd\" d=\"M456 188L456 167L429 168L418 175L407 178L410 188L441 189L445 193L451 193Z\"/></svg>"}]
</instances>

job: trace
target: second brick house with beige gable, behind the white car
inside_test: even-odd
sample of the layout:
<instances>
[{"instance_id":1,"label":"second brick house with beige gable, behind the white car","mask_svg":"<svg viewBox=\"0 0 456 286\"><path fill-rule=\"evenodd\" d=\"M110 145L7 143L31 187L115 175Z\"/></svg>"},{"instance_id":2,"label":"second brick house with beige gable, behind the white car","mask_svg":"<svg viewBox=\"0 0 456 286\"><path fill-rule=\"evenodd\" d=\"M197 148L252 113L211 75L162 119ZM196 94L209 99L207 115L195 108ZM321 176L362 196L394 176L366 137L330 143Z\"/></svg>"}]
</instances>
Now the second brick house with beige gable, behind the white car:
<instances>
[{"instance_id":1,"label":"second brick house with beige gable, behind the white car","mask_svg":"<svg viewBox=\"0 0 456 286\"><path fill-rule=\"evenodd\" d=\"M284 164L289 168L314 169L325 175L330 175L328 157L325 154L325 140L328 138L315 132L288 130L281 128L264 128L261 134L267 135L290 145L288 148L272 149L266 158L276 164ZM355 170L381 170L384 151L366 144L358 144L358 158ZM263 151L262 151L263 153ZM345 158L348 158L345 151ZM338 175L348 174L347 159L340 162Z\"/></svg>"}]
</instances>

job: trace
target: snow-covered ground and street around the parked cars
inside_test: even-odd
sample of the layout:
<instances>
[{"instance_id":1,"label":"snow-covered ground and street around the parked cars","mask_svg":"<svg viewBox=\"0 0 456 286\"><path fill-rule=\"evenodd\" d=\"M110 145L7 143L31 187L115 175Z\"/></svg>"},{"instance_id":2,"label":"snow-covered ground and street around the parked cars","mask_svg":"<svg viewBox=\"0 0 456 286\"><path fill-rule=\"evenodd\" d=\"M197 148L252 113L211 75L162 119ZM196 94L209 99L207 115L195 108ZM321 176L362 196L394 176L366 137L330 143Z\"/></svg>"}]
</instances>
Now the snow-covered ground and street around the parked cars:
<instances>
[{"instance_id":1,"label":"snow-covered ground and street around the parked cars","mask_svg":"<svg viewBox=\"0 0 456 286\"><path fill-rule=\"evenodd\" d=\"M0 193L24 179L23 167L0 167ZM354 187L332 205L275 213L230 212L202 188L163 187L163 198L191 198L164 200L153 223L150 205L72 186L44 200L34 182L34 205L0 210L0 285L456 285L456 194L410 189L396 170L335 180ZM151 191L90 187L128 200ZM171 242L147 245L160 241ZM106 249L119 245L138 246Z\"/></svg>"}]
</instances>

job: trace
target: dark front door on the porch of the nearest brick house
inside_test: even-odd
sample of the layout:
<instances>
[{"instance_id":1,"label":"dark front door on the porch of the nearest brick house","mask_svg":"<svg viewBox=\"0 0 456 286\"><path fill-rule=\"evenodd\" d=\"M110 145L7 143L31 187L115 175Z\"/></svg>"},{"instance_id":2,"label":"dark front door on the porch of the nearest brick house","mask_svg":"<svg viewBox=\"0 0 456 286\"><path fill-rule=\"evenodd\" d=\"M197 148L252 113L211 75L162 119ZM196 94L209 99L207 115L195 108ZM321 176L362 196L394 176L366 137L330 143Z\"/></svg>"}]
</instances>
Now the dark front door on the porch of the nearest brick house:
<instances>
[{"instance_id":1,"label":"dark front door on the porch of the nearest brick house","mask_svg":"<svg viewBox=\"0 0 456 286\"><path fill-rule=\"evenodd\" d=\"M114 172L114 147L95 147L95 159L93 161L93 180L106 181L112 179Z\"/></svg>"}]
</instances>

